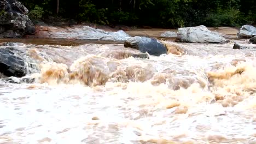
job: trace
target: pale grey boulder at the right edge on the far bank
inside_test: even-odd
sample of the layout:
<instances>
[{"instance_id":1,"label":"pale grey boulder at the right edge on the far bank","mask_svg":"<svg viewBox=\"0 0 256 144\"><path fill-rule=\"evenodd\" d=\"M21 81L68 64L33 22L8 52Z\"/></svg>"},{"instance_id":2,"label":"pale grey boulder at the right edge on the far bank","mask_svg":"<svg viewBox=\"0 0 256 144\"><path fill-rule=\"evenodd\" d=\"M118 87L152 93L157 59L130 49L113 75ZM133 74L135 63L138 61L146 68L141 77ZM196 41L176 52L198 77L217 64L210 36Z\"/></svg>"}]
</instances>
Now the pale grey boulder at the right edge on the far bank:
<instances>
[{"instance_id":1,"label":"pale grey boulder at the right edge on the far bank","mask_svg":"<svg viewBox=\"0 0 256 144\"><path fill-rule=\"evenodd\" d=\"M256 27L244 25L240 28L240 30L237 32L238 38L252 38L256 35Z\"/></svg>"}]
</instances>

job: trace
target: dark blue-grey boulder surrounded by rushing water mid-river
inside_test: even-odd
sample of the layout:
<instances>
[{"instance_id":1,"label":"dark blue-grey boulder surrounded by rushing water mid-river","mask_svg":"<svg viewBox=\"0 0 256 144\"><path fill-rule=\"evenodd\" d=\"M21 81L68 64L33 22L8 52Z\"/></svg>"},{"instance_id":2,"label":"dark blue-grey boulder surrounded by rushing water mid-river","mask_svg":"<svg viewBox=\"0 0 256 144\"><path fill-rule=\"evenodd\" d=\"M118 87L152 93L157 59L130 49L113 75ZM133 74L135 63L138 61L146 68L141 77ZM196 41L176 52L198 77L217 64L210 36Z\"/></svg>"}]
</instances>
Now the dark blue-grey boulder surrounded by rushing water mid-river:
<instances>
[{"instance_id":1,"label":"dark blue-grey boulder surrounded by rushing water mid-river","mask_svg":"<svg viewBox=\"0 0 256 144\"><path fill-rule=\"evenodd\" d=\"M136 36L125 40L124 46L137 49L141 52L148 52L149 55L154 56L160 56L164 53L167 53L165 45L159 43L159 41L154 38Z\"/></svg>"}]
</instances>

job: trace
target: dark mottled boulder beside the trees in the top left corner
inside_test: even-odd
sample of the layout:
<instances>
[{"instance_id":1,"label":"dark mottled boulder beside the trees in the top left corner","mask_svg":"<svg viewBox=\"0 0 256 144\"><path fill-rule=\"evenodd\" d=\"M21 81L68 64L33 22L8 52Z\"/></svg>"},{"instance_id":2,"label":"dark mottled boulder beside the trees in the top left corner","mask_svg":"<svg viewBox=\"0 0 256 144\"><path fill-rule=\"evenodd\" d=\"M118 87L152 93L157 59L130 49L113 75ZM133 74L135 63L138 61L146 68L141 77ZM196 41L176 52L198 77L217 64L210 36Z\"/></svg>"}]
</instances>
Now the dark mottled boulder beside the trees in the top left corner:
<instances>
[{"instance_id":1,"label":"dark mottled boulder beside the trees in the top left corner","mask_svg":"<svg viewBox=\"0 0 256 144\"><path fill-rule=\"evenodd\" d=\"M34 34L35 27L28 10L15 0L0 0L0 38L20 38Z\"/></svg>"}]
</instances>

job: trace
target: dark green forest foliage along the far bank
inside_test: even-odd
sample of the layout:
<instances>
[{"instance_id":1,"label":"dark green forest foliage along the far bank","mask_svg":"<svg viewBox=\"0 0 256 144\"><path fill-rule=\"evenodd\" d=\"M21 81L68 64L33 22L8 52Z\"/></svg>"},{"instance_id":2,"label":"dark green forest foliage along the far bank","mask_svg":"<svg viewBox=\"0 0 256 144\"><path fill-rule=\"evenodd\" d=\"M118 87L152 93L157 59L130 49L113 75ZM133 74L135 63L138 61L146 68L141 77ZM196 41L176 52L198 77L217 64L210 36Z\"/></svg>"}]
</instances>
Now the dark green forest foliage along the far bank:
<instances>
[{"instance_id":1,"label":"dark green forest foliage along the far bank","mask_svg":"<svg viewBox=\"0 0 256 144\"><path fill-rule=\"evenodd\" d=\"M20 0L33 19L56 16L57 0ZM1 13L0 13L1 14ZM153 27L238 26L256 23L253 0L60 0L67 19L103 25Z\"/></svg>"}]
</instances>

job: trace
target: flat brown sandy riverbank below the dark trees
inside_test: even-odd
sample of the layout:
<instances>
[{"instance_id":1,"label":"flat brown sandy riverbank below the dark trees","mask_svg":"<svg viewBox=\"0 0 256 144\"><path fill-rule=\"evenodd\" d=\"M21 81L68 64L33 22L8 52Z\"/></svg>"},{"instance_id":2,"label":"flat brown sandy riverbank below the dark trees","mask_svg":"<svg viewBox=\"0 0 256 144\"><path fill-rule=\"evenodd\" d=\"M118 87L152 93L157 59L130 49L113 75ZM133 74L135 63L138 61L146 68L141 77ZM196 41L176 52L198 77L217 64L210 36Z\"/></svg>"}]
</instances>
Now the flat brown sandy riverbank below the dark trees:
<instances>
[{"instance_id":1,"label":"flat brown sandy riverbank below the dark trees","mask_svg":"<svg viewBox=\"0 0 256 144\"><path fill-rule=\"evenodd\" d=\"M106 25L96 25L95 23L76 23L76 22L58 22L58 23L44 23L39 22L36 23L36 34L35 35L25 35L25 38L52 38L53 34L57 32L66 32L70 33L70 29L84 29L85 26L89 26L91 28L102 29L106 32L117 32L124 31L129 34L131 37L135 36L144 36L144 37L153 37L153 38L163 38L161 34L167 31L177 32L177 29L170 28L153 28L153 27L129 27L129 26L106 26ZM226 37L230 39L236 39L237 31L239 28L237 27L207 27L210 31L218 32L224 34ZM68 37L69 35L67 35ZM75 38L67 38L67 39L75 39ZM167 40L174 41L175 38L164 38Z\"/></svg>"}]
</instances>

